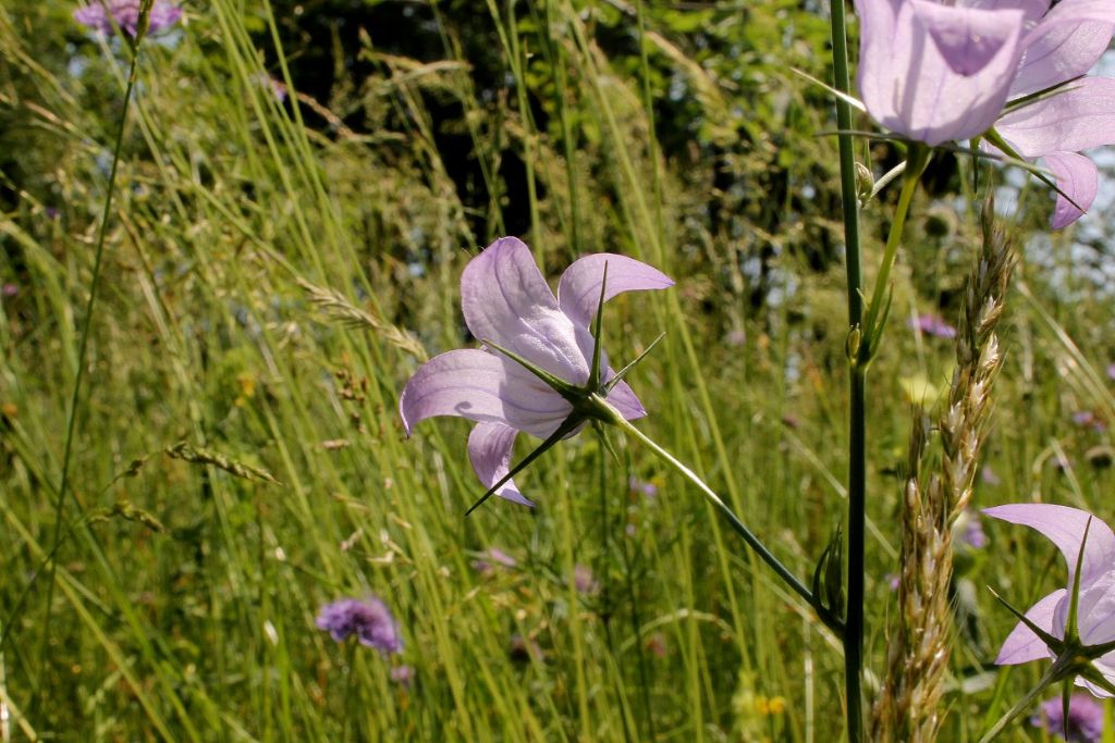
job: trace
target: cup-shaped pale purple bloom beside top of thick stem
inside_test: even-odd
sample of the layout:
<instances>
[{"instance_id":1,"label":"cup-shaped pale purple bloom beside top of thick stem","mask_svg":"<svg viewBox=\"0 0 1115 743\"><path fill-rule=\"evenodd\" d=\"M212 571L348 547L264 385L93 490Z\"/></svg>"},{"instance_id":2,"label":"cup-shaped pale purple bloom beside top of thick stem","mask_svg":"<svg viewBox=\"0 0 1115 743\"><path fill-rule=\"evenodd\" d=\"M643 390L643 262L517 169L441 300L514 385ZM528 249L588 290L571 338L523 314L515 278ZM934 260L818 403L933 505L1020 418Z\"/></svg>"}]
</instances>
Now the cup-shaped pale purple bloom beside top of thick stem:
<instances>
[{"instance_id":1,"label":"cup-shaped pale purple bloom beside top of thick stem","mask_svg":"<svg viewBox=\"0 0 1115 743\"><path fill-rule=\"evenodd\" d=\"M872 118L931 146L995 124L1022 53L1021 9L866 0L860 14L860 92Z\"/></svg>"}]
</instances>

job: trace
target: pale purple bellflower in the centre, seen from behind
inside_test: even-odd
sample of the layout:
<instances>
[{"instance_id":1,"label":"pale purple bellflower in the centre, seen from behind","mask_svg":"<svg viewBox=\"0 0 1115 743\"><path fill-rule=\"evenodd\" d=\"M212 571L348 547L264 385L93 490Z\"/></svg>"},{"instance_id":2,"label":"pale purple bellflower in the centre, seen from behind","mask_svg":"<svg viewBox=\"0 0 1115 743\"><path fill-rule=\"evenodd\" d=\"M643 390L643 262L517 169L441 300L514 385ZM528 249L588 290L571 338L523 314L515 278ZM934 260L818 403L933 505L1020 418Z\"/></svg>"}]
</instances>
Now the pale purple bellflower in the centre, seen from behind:
<instances>
[{"instance_id":1,"label":"pale purple bellflower in the centre, seen from behind","mask_svg":"<svg viewBox=\"0 0 1115 743\"><path fill-rule=\"evenodd\" d=\"M595 378L607 387L608 403L623 418L646 416L626 382L609 384L614 381L614 371L603 352L595 353L589 326L601 302L602 286L603 300L609 300L622 292L672 285L669 277L644 263L595 253L565 270L555 297L530 248L515 237L497 239L469 261L460 276L465 324L488 348L448 351L410 378L399 399L407 433L435 416L476 421L468 437L468 457L476 476L487 488L505 478L518 432L547 439L574 413L573 395L559 392L506 352L571 389L585 389ZM591 373L594 356L601 365L595 375ZM514 480L507 480L496 495L532 505Z\"/></svg>"}]
</instances>

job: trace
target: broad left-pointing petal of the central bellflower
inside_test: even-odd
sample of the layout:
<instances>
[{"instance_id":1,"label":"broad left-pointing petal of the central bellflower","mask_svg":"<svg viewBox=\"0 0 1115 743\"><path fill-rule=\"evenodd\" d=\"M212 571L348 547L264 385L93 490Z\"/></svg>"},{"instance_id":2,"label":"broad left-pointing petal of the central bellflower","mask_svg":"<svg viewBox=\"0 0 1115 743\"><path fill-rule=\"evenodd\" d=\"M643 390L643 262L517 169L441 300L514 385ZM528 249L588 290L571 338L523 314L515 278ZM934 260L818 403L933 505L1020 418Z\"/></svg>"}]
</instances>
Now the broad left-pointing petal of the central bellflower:
<instances>
[{"instance_id":1,"label":"broad left-pointing petal of the central bellflower","mask_svg":"<svg viewBox=\"0 0 1115 743\"><path fill-rule=\"evenodd\" d=\"M486 351L462 349L437 355L418 369L399 398L410 429L434 416L505 423L540 438L550 436L572 405L525 369Z\"/></svg>"}]
</instances>

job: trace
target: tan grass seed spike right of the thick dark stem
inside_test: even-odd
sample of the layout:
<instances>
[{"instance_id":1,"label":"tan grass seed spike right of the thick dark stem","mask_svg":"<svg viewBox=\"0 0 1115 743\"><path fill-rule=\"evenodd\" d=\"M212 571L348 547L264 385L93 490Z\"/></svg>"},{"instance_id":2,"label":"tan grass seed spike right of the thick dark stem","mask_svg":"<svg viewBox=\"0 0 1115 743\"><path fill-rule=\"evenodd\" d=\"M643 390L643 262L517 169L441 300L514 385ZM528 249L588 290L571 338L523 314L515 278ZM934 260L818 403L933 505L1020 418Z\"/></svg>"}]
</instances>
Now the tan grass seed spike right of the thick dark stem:
<instances>
[{"instance_id":1,"label":"tan grass seed spike right of the thick dark stem","mask_svg":"<svg viewBox=\"0 0 1115 743\"><path fill-rule=\"evenodd\" d=\"M941 696L952 636L952 525L972 497L990 392L1002 364L995 330L1015 266L1010 245L992 215L988 202L982 247L968 277L957 333L957 369L937 422L943 449L939 471L921 473L931 427L920 411L910 437L899 612L886 677L872 715L874 740L935 741L943 720Z\"/></svg>"}]
</instances>

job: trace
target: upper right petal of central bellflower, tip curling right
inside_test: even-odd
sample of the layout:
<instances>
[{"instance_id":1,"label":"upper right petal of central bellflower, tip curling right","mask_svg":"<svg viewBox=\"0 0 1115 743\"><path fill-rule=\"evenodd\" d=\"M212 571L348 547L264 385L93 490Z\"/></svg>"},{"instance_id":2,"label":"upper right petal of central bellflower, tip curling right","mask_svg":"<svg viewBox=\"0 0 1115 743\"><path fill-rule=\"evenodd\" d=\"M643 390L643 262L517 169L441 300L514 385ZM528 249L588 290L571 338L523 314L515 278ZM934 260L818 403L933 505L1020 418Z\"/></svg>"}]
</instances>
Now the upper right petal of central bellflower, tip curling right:
<instances>
[{"instance_id":1,"label":"upper right petal of central bellflower, tip curling right","mask_svg":"<svg viewBox=\"0 0 1115 743\"><path fill-rule=\"evenodd\" d=\"M558 282L558 304L573 322L589 326L600 303L600 282L608 264L604 301L623 292L669 289L673 281L658 268L615 253L594 253L578 258Z\"/></svg>"}]
</instances>

